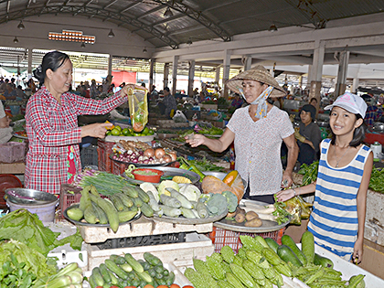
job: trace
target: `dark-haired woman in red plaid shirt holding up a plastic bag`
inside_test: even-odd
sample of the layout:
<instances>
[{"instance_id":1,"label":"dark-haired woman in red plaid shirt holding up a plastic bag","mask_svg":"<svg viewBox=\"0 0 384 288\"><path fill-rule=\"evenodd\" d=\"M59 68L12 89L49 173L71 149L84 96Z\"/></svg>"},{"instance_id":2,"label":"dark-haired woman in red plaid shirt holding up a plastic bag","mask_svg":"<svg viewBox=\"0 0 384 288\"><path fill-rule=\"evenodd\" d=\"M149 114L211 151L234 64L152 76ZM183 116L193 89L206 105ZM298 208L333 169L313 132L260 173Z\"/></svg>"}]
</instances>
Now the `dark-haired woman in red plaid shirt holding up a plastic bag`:
<instances>
[{"instance_id":1,"label":"dark-haired woman in red plaid shirt holding up a plastic bag","mask_svg":"<svg viewBox=\"0 0 384 288\"><path fill-rule=\"evenodd\" d=\"M48 52L33 72L41 88L27 102L25 187L59 194L60 186L71 183L73 176L80 173L81 138L104 138L112 126L92 123L79 127L78 116L111 112L127 101L129 85L102 101L70 93L72 63L67 54L59 51Z\"/></svg>"}]
</instances>

